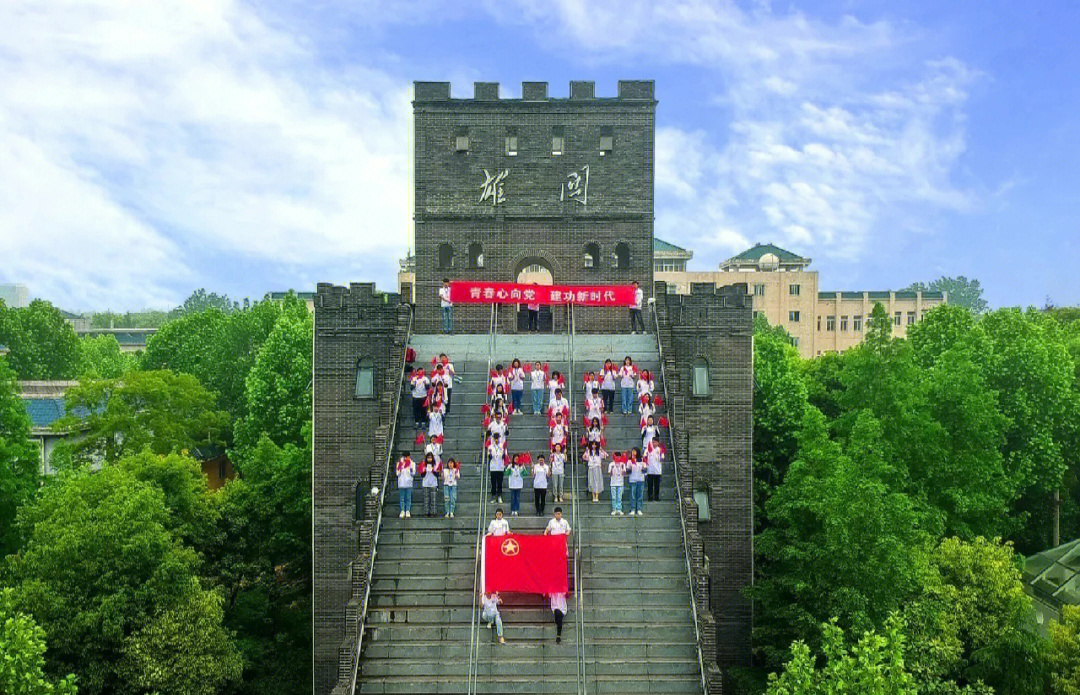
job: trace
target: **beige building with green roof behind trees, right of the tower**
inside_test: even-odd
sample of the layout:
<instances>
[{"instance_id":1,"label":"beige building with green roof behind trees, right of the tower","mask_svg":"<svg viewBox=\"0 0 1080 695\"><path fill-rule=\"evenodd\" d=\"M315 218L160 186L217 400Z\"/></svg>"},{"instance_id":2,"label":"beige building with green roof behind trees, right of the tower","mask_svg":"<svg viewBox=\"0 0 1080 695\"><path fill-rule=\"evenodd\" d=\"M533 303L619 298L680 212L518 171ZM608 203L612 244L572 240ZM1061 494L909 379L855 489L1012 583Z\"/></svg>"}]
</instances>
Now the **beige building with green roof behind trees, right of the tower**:
<instances>
[{"instance_id":1,"label":"beige building with green roof behind trees, right of the tower","mask_svg":"<svg viewBox=\"0 0 1080 695\"><path fill-rule=\"evenodd\" d=\"M718 271L666 270L677 265L679 251L689 259L692 251L657 240L672 261L656 272L657 282L666 283L667 291L686 295L693 283L717 287L746 283L754 297L754 314L762 314L772 326L783 326L799 354L815 357L840 352L862 342L866 322L874 304L881 303L892 318L892 335L903 338L907 327L921 321L928 311L947 301L945 292L890 290L820 290L818 271L810 270L810 259L772 244L756 244L733 256Z\"/></svg>"}]
</instances>

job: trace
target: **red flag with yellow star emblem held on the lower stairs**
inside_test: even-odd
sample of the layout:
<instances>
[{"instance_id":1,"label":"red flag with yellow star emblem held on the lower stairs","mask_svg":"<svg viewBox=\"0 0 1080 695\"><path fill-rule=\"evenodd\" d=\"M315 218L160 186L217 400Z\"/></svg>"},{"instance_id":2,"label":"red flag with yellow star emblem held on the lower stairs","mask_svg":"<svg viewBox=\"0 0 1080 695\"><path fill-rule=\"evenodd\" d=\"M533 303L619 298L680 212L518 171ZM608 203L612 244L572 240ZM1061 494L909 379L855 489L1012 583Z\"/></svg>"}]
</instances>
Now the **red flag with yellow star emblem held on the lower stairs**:
<instances>
[{"instance_id":1,"label":"red flag with yellow star emblem held on the lower stairs","mask_svg":"<svg viewBox=\"0 0 1080 695\"><path fill-rule=\"evenodd\" d=\"M484 591L566 594L565 535L489 535L484 539Z\"/></svg>"}]
</instances>

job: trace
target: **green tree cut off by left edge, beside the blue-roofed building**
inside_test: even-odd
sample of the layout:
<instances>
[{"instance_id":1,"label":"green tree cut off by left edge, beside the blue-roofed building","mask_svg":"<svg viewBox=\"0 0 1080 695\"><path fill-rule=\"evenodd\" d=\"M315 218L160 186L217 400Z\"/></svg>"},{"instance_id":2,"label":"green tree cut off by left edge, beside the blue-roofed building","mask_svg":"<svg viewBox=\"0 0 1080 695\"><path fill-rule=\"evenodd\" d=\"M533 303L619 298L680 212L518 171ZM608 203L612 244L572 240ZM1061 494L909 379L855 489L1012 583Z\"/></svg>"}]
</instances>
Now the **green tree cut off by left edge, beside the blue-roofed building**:
<instances>
[{"instance_id":1,"label":"green tree cut off by left edge, beside the blue-roofed building","mask_svg":"<svg viewBox=\"0 0 1080 695\"><path fill-rule=\"evenodd\" d=\"M18 545L15 514L38 488L40 448L30 440L30 417L18 381L0 357L0 558Z\"/></svg>"}]
</instances>

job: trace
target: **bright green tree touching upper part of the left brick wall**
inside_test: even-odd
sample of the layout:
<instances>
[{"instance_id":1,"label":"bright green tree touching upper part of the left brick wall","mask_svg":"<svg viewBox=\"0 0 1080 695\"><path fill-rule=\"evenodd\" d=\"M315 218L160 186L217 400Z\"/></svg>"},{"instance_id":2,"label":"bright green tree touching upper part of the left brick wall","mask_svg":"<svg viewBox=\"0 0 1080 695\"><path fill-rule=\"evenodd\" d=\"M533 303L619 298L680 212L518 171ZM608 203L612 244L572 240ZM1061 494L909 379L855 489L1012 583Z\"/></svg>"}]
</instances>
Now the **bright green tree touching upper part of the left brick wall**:
<instances>
[{"instance_id":1,"label":"bright green tree touching upper part of the left brick wall","mask_svg":"<svg viewBox=\"0 0 1080 695\"><path fill-rule=\"evenodd\" d=\"M239 449L251 449L264 435L279 446L303 446L311 423L313 331L307 308L284 312L274 323L244 382L247 414L234 430Z\"/></svg>"}]
</instances>

